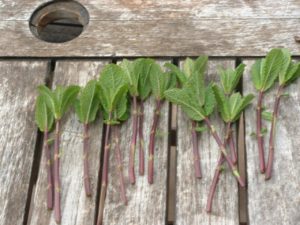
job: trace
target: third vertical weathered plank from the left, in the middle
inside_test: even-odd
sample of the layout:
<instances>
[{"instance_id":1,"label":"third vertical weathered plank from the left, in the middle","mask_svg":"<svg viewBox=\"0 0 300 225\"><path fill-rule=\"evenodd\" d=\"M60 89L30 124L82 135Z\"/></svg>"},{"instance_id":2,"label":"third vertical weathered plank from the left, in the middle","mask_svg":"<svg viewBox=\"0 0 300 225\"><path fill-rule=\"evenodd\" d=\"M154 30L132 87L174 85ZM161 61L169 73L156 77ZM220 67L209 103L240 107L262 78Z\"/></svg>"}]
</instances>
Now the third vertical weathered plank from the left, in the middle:
<instances>
[{"instance_id":1,"label":"third vertical weathered plank from the left, in the middle","mask_svg":"<svg viewBox=\"0 0 300 225\"><path fill-rule=\"evenodd\" d=\"M168 121L169 104L164 102L161 108L158 132L155 140L154 183L147 179L149 136L155 109L155 99L150 97L144 103L144 139L145 139L145 175L138 173L138 148L136 149L135 171L136 183L131 185L128 177L130 140L132 136L132 119L121 126L121 150L123 155L123 173L126 183L128 205L120 199L118 164L114 150L110 155L109 185L104 208L104 225L164 225L167 208L167 165L168 165ZM114 135L114 133L112 133Z\"/></svg>"}]
</instances>

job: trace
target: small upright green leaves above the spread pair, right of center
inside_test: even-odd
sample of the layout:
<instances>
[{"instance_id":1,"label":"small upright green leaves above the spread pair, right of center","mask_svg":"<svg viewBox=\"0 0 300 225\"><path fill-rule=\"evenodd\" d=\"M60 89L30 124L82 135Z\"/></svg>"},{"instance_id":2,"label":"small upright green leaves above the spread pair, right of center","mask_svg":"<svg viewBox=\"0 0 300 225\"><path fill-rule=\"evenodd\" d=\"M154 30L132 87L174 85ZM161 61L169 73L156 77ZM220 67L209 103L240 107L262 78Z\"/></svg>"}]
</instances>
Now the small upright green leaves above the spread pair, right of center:
<instances>
[{"instance_id":1,"label":"small upright green leaves above the spread pair, right of center","mask_svg":"<svg viewBox=\"0 0 300 225\"><path fill-rule=\"evenodd\" d=\"M246 65L240 64L236 69L219 69L221 85L225 95L230 95L238 85Z\"/></svg>"}]
</instances>

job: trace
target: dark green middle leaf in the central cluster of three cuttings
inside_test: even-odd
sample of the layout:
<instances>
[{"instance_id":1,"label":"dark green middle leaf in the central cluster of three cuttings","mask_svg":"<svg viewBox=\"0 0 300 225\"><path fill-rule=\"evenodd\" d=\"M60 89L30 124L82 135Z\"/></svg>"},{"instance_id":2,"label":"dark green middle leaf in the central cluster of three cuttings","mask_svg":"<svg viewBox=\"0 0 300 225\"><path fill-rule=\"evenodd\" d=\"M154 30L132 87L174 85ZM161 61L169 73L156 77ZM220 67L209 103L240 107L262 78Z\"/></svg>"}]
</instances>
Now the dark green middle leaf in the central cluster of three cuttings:
<instances>
[{"instance_id":1,"label":"dark green middle leaf in the central cluster of three cuttings","mask_svg":"<svg viewBox=\"0 0 300 225\"><path fill-rule=\"evenodd\" d=\"M139 97L144 101L151 93L149 77L151 76L151 67L155 63L153 59L139 59L136 61L136 72L139 73L138 92Z\"/></svg>"}]
</instances>

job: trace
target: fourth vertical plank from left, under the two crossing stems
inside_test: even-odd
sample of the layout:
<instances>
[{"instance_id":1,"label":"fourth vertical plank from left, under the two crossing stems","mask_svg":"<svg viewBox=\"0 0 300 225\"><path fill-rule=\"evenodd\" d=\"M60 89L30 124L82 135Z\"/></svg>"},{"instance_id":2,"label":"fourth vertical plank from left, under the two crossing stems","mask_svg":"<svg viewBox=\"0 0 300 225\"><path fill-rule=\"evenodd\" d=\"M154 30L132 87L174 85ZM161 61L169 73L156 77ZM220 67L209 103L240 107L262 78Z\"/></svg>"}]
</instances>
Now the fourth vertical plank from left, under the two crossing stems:
<instances>
[{"instance_id":1,"label":"fourth vertical plank from left, under the two crossing stems","mask_svg":"<svg viewBox=\"0 0 300 225\"><path fill-rule=\"evenodd\" d=\"M210 60L208 77L217 80L216 69L218 65L234 67L233 60ZM193 224L239 224L237 183L226 167L221 174L213 202L213 211L205 211L209 187L214 175L220 151L215 140L208 132L199 135L199 152L203 178L195 178L194 158L190 135L190 120L178 110L178 136L177 136L177 200L176 219L178 225ZM224 135L224 124L214 116L213 123L220 135ZM222 133L220 133L222 131Z\"/></svg>"}]
</instances>

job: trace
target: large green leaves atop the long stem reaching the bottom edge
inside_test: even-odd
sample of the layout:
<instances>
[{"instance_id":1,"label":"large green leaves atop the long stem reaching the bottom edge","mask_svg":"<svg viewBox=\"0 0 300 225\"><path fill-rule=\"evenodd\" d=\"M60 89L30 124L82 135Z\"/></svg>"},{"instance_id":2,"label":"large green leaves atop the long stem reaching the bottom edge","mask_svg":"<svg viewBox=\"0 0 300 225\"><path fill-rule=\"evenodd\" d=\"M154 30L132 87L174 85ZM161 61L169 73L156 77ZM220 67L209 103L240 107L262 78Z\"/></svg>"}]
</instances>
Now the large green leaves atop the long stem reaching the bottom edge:
<instances>
[{"instance_id":1,"label":"large green leaves atop the long stem reaching the bottom edge","mask_svg":"<svg viewBox=\"0 0 300 225\"><path fill-rule=\"evenodd\" d=\"M128 84L124 70L115 64L104 67L99 78L99 98L106 123L127 117Z\"/></svg>"}]
</instances>

